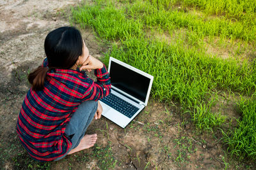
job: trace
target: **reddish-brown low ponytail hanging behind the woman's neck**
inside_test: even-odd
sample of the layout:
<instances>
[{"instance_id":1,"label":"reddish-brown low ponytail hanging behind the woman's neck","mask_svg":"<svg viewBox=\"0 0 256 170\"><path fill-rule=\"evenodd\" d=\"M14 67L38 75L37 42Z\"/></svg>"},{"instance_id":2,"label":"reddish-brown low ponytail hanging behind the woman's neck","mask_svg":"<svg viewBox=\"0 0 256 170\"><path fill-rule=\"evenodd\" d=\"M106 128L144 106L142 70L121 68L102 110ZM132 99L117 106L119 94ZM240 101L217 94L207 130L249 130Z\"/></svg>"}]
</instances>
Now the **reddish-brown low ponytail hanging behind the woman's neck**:
<instances>
[{"instance_id":1,"label":"reddish-brown low ponytail hanging behind the woman's neck","mask_svg":"<svg viewBox=\"0 0 256 170\"><path fill-rule=\"evenodd\" d=\"M47 76L48 67L39 66L35 71L29 73L28 81L32 85L33 90L43 90L44 89L44 80Z\"/></svg>"}]
</instances>

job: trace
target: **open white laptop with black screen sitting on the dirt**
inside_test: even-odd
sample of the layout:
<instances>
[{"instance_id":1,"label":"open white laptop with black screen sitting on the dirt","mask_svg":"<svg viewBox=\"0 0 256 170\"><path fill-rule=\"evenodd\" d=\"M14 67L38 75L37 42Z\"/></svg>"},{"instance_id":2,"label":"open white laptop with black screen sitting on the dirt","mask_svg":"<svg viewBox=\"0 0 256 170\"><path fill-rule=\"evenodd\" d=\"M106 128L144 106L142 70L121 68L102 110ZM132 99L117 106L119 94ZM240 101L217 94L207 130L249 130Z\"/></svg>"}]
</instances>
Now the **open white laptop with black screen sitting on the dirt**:
<instances>
[{"instance_id":1,"label":"open white laptop with black screen sitting on the dirt","mask_svg":"<svg viewBox=\"0 0 256 170\"><path fill-rule=\"evenodd\" d=\"M113 57L108 72L111 93L100 99L102 116L125 128L147 106L154 77Z\"/></svg>"}]
</instances>

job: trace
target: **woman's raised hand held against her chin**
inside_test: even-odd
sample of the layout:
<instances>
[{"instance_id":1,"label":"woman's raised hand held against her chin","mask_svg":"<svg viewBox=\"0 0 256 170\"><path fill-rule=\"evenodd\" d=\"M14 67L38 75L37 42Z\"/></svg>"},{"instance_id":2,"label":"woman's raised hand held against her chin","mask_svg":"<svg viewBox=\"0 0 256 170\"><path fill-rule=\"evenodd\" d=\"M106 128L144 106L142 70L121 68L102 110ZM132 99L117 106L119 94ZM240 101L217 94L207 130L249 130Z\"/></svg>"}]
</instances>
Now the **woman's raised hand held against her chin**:
<instances>
[{"instance_id":1,"label":"woman's raised hand held against her chin","mask_svg":"<svg viewBox=\"0 0 256 170\"><path fill-rule=\"evenodd\" d=\"M103 63L89 55L87 59L83 62L82 66L80 67L80 71L86 69L87 71L92 71L92 69L101 69L103 67Z\"/></svg>"}]
</instances>

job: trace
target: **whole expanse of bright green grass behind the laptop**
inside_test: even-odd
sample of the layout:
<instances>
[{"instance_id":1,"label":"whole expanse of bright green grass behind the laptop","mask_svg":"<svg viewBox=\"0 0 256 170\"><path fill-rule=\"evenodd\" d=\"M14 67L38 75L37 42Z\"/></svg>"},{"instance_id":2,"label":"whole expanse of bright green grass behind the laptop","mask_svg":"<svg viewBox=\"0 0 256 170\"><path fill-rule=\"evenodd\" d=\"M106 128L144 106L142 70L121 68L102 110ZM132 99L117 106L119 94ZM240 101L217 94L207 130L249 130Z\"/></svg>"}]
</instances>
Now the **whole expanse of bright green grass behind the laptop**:
<instances>
[{"instance_id":1,"label":"whole expanse of bright green grass behind the laptop","mask_svg":"<svg viewBox=\"0 0 256 170\"><path fill-rule=\"evenodd\" d=\"M111 42L105 63L112 56L152 74L154 99L175 103L182 113L191 115L200 131L213 132L223 129L228 118L224 113L212 113L218 92L244 97L255 94L256 59L240 59L247 55L243 48L255 48L255 9L255 1L245 0L95 1L72 8L72 22L84 29L92 27L99 38ZM220 39L220 48L228 42L236 46L236 52L228 59L206 53L205 39L211 45ZM241 103L241 120L246 115L253 117L255 109ZM236 143L237 138L244 138L256 145L252 140L256 132L247 132L253 124L238 122L240 130L225 133L224 129L223 139L229 150L235 148L232 155L255 159L255 150L246 141Z\"/></svg>"}]
</instances>

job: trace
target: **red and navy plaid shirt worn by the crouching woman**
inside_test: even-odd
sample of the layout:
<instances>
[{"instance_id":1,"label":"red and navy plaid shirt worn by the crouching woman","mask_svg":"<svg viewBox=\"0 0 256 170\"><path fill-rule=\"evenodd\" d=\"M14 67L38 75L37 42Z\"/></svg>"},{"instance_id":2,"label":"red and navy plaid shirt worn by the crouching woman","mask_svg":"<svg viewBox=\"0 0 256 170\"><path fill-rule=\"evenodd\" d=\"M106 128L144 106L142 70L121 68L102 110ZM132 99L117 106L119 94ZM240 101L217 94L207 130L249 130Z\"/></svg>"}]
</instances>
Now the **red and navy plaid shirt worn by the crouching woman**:
<instances>
[{"instance_id":1,"label":"red and navy plaid shirt worn by the crouching woman","mask_svg":"<svg viewBox=\"0 0 256 170\"><path fill-rule=\"evenodd\" d=\"M47 59L43 66L48 65ZM17 121L17 133L29 155L50 161L67 153L72 143L64 134L67 123L83 101L108 96L111 82L106 66L95 70L97 82L85 71L51 69L44 90L29 89Z\"/></svg>"}]
</instances>

